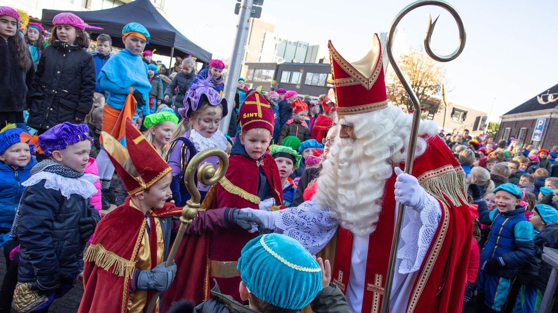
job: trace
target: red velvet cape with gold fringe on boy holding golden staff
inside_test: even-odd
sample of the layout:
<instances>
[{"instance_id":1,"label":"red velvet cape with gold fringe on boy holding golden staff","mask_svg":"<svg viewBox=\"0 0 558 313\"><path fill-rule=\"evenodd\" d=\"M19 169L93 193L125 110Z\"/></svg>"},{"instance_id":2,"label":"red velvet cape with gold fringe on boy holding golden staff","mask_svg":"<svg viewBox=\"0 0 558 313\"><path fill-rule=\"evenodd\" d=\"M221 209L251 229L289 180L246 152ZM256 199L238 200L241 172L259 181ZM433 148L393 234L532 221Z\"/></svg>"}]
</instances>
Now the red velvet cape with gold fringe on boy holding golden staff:
<instances>
[{"instance_id":1,"label":"red velvet cape with gold fringe on boy holding golden staff","mask_svg":"<svg viewBox=\"0 0 558 313\"><path fill-rule=\"evenodd\" d=\"M81 298L78 312L127 312L129 283L137 252L146 229L146 219L144 214L129 206L130 198L126 202L114 209L113 212L103 217L93 237L92 247L85 253L83 285L84 293ZM178 216L181 208L174 206L174 203L166 203L161 209L152 213L152 217ZM153 232L155 233L155 232ZM150 238L152 260L156 261L156 242ZM96 251L95 260L89 260L89 249ZM110 258L118 258L119 261L109 262ZM105 263L104 262L109 262ZM100 264L100 265L99 265ZM105 267L105 268L103 268ZM125 268L125 269L124 269ZM120 273L119 270L123 270ZM185 288L194 286L185 286ZM199 286L195 286L199 288ZM150 293L151 294L151 293ZM148 294L148 300L151 295Z\"/></svg>"}]
</instances>

